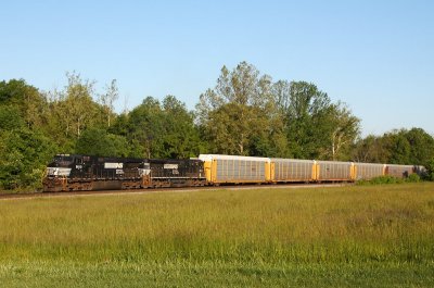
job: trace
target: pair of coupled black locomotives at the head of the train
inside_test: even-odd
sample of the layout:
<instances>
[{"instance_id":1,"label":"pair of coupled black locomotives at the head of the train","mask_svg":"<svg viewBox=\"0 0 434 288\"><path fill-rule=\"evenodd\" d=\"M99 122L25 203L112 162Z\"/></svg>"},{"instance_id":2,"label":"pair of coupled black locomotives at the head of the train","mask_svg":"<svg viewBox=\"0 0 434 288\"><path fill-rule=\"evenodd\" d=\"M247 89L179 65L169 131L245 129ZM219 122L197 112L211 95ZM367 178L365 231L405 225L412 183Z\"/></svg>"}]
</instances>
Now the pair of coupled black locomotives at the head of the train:
<instances>
[{"instance_id":1,"label":"pair of coupled black locomotives at the head of the train","mask_svg":"<svg viewBox=\"0 0 434 288\"><path fill-rule=\"evenodd\" d=\"M47 167L44 191L118 190L204 186L195 159L131 159L58 154Z\"/></svg>"}]
</instances>

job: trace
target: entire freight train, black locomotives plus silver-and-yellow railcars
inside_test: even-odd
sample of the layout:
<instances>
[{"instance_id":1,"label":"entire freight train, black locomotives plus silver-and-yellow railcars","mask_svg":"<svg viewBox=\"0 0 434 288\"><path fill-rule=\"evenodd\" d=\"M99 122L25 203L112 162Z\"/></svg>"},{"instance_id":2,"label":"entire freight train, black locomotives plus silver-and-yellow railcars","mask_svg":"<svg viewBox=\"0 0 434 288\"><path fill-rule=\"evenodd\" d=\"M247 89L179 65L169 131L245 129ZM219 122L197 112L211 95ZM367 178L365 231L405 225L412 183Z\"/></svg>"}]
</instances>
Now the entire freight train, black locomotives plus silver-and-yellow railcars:
<instances>
[{"instance_id":1,"label":"entire freight train, black locomotives plus silver-and-yellow railcars","mask_svg":"<svg viewBox=\"0 0 434 288\"><path fill-rule=\"evenodd\" d=\"M201 154L197 159L130 159L58 154L43 191L117 190L239 184L335 183L391 175L423 166Z\"/></svg>"}]
</instances>

